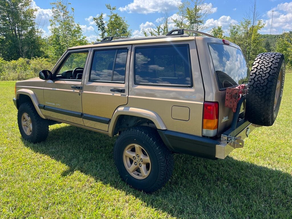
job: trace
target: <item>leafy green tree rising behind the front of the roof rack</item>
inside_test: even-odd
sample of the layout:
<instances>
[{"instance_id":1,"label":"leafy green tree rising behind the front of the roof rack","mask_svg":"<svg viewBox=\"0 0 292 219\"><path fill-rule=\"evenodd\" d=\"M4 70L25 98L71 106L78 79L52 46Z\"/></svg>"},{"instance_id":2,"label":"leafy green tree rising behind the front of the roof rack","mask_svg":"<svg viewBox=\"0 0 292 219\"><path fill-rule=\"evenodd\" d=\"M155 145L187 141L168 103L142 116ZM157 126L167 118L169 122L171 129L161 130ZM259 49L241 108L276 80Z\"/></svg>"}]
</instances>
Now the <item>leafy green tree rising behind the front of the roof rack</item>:
<instances>
[{"instance_id":1,"label":"leafy green tree rising behind the front of the roof rack","mask_svg":"<svg viewBox=\"0 0 292 219\"><path fill-rule=\"evenodd\" d=\"M100 14L98 17L93 18L98 30L100 30L100 36L121 36L130 37L131 30L125 18L122 18L118 13L115 13L116 6L112 7L110 4L105 4L107 9L110 11L107 15L108 20L105 21L104 14Z\"/></svg>"}]
</instances>

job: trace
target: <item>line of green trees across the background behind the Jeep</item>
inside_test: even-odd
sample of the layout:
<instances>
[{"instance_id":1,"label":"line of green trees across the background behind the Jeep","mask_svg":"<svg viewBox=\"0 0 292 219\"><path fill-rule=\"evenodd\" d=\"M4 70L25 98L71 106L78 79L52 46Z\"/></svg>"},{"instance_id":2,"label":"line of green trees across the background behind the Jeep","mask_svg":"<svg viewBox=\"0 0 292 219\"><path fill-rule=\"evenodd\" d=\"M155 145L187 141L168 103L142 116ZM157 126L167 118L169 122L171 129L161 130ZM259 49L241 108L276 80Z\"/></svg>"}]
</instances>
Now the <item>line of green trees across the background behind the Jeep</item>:
<instances>
[{"instance_id":1,"label":"line of green trees across the background behind the Jeep","mask_svg":"<svg viewBox=\"0 0 292 219\"><path fill-rule=\"evenodd\" d=\"M68 0L56 0L51 3L52 18L49 36L43 36L44 21L38 16L37 9L31 6L31 0L0 0L0 77L1 69L11 60L25 59L46 60L46 65L58 60L64 51L72 46L89 44L82 34L79 23L74 19L74 8ZM130 37L131 29L124 17L117 13L117 8L105 5L109 13L101 13L93 18L96 39L106 36ZM205 0L185 0L178 5L178 11L170 16L163 11L155 27L142 29L145 36L165 35L174 28L208 32L220 39L239 45L249 65L257 54L277 51L283 53L286 62L292 66L292 32L279 35L261 35L264 25L257 12L256 0L250 10L237 24L231 24L227 30L221 26L205 26L213 5ZM190 33L190 35L193 35ZM23 60L21 60L23 63ZM17 66L17 64L14 64ZM13 66L14 66L13 65Z\"/></svg>"}]
</instances>

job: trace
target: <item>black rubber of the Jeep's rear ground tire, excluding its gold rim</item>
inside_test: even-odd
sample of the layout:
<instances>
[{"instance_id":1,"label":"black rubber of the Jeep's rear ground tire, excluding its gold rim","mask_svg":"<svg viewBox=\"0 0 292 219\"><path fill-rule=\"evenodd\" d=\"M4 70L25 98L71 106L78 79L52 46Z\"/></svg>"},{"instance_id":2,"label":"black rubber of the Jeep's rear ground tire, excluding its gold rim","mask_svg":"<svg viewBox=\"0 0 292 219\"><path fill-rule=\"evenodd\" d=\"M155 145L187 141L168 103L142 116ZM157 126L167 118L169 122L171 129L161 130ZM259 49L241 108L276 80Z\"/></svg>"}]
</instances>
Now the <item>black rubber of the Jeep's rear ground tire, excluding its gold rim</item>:
<instances>
[{"instance_id":1,"label":"black rubber of the Jeep's rear ground tire, excluding its gold rim","mask_svg":"<svg viewBox=\"0 0 292 219\"><path fill-rule=\"evenodd\" d=\"M134 178L123 161L125 148L130 144L141 145L151 161L151 171L145 179ZM119 135L114 145L114 161L121 178L133 188L150 193L163 187L173 172L173 154L161 140L157 130L147 126L136 126Z\"/></svg>"}]
</instances>

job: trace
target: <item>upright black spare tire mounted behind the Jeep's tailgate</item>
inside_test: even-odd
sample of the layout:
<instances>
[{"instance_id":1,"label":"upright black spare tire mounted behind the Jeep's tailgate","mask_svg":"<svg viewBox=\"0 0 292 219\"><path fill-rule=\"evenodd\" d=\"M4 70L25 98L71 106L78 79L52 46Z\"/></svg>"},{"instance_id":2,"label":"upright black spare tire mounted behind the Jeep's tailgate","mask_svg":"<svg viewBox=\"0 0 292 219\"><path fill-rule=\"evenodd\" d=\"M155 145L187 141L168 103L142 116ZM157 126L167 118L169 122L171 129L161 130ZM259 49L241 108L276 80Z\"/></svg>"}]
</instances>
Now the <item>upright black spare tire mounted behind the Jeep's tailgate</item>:
<instances>
[{"instance_id":1,"label":"upright black spare tire mounted behind the Jeep's tailgate","mask_svg":"<svg viewBox=\"0 0 292 219\"><path fill-rule=\"evenodd\" d=\"M280 77L279 77L280 74ZM274 98L278 79L280 90ZM253 62L248 79L245 117L253 124L271 126L277 118L285 79L285 60L281 53L261 53Z\"/></svg>"}]
</instances>

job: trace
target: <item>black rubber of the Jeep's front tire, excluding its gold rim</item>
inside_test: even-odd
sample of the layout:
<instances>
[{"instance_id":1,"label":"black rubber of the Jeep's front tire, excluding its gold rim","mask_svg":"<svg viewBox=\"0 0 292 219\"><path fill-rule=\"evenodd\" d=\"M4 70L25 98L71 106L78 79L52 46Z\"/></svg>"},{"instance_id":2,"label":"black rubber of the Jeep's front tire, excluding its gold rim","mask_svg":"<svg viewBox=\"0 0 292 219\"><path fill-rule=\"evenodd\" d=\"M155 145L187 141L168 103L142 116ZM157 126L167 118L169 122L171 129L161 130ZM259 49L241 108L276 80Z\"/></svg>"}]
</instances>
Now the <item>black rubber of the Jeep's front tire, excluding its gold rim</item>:
<instances>
[{"instance_id":1,"label":"black rubber of the Jeep's front tire, excluding its gold rim","mask_svg":"<svg viewBox=\"0 0 292 219\"><path fill-rule=\"evenodd\" d=\"M32 123L32 132L30 135L27 135L22 128L22 115L27 113L31 119ZM46 140L49 132L49 124L46 119L43 119L39 116L34 108L34 105L31 102L25 102L20 105L17 113L18 128L22 138L25 140L38 143Z\"/></svg>"}]
</instances>

